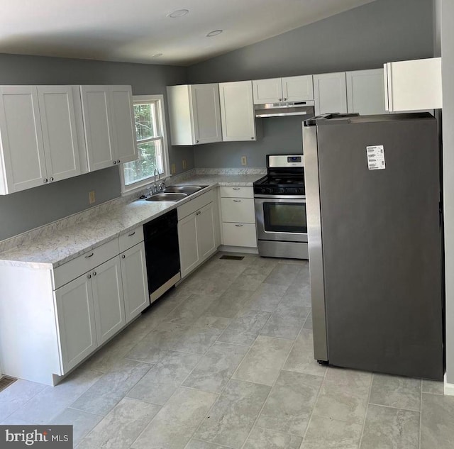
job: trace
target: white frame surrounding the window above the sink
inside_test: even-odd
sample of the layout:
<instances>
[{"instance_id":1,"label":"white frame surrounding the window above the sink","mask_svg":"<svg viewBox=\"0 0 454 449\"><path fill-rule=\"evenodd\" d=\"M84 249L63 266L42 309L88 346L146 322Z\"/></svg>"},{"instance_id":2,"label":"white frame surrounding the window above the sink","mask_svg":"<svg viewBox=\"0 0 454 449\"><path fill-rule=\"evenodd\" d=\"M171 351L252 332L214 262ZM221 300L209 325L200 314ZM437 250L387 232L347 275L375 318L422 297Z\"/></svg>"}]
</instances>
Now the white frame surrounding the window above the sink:
<instances>
[{"instance_id":1,"label":"white frame surrounding the window above the sink","mask_svg":"<svg viewBox=\"0 0 454 449\"><path fill-rule=\"evenodd\" d=\"M158 126L162 131L162 169L163 173L160 174L161 179L165 179L166 177L170 177L170 165L169 165L169 146L167 144L167 126L165 123L165 106L164 106L164 95L157 94L157 95L133 95L133 105L135 104L147 104L150 102L157 102L157 109L159 110L159 117L157 120L160 121ZM160 138L156 138L158 140ZM135 142L137 145L137 140ZM125 184L125 174L124 174L124 167L121 164L120 167L120 178L121 178L121 193L122 194L131 194L135 190L141 190L144 187L148 186L148 184L152 184L154 182L154 176L151 175L148 178L140 179L140 181L134 182L133 184Z\"/></svg>"}]
</instances>

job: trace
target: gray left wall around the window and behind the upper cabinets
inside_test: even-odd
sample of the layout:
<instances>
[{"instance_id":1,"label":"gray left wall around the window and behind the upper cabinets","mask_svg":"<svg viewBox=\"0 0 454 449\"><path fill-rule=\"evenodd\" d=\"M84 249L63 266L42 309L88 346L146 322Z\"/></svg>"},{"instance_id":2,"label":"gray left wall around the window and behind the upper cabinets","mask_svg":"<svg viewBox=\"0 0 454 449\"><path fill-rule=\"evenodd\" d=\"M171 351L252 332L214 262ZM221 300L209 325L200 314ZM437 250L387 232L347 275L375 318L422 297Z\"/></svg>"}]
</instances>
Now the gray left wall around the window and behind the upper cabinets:
<instances>
[{"instance_id":1,"label":"gray left wall around the window and behind the upper cabinets","mask_svg":"<svg viewBox=\"0 0 454 449\"><path fill-rule=\"evenodd\" d=\"M0 55L0 84L131 84L133 94L145 95L165 94L165 86L182 84L186 77L184 67ZM194 167L191 147L171 147L169 153L177 172L183 171L182 159ZM96 205L120 196L120 189L118 167L111 167L0 196L0 240L87 209L90 190L96 192Z\"/></svg>"}]
</instances>

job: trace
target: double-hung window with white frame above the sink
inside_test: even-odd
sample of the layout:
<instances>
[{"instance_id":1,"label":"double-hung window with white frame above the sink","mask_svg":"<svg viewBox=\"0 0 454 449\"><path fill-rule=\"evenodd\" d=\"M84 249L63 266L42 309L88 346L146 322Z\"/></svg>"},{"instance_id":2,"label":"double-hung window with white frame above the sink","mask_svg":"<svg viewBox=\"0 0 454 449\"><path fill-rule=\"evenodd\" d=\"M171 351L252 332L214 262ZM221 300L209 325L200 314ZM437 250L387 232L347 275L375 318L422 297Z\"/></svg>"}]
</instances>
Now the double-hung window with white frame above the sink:
<instances>
[{"instance_id":1,"label":"double-hung window with white frame above the sink","mask_svg":"<svg viewBox=\"0 0 454 449\"><path fill-rule=\"evenodd\" d=\"M169 174L164 97L133 96L133 104L138 160L123 164L123 192L150 184L155 169L161 177Z\"/></svg>"}]
</instances>

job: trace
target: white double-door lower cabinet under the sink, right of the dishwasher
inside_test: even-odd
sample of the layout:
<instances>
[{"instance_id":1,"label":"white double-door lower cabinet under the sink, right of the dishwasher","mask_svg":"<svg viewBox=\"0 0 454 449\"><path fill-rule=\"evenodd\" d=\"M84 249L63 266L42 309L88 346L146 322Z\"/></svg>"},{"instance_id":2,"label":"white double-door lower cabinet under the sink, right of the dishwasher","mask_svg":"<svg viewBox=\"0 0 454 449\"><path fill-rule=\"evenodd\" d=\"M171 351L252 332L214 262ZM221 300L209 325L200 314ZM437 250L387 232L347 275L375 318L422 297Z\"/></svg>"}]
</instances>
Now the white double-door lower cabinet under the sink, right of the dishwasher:
<instances>
[{"instance_id":1,"label":"white double-door lower cabinet under the sink, right of the dishwasher","mask_svg":"<svg viewBox=\"0 0 454 449\"><path fill-rule=\"evenodd\" d=\"M178 209L179 262L182 278L216 253L217 206L210 191Z\"/></svg>"}]
</instances>

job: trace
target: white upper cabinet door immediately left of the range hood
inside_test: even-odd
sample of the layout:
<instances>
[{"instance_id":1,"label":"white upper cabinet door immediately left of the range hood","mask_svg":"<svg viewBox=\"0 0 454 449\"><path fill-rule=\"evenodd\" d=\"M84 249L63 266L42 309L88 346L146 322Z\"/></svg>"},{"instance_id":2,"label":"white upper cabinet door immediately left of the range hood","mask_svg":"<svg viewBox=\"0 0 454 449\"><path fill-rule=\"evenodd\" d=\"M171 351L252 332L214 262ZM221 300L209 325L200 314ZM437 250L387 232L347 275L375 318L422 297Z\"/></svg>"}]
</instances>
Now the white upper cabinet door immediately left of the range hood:
<instances>
[{"instance_id":1,"label":"white upper cabinet door immediately left of the range hood","mask_svg":"<svg viewBox=\"0 0 454 449\"><path fill-rule=\"evenodd\" d=\"M256 140L252 82L219 83L222 140Z\"/></svg>"}]
</instances>

